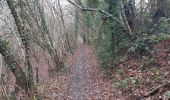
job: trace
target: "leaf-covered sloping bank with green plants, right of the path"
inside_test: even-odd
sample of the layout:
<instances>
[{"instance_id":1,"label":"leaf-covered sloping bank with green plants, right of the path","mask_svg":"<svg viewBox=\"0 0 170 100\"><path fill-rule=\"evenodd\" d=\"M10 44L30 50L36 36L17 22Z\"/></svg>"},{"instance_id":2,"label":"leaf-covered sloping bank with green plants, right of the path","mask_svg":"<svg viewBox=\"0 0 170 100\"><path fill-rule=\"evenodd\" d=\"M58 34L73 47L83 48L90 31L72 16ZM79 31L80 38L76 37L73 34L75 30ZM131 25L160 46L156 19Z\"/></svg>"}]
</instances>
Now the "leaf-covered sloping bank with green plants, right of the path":
<instances>
[{"instance_id":1,"label":"leaf-covered sloping bank with green plants, right of the path","mask_svg":"<svg viewBox=\"0 0 170 100\"><path fill-rule=\"evenodd\" d=\"M170 40L160 41L154 50L155 57L130 58L113 69L114 87L126 100L158 100L170 95Z\"/></svg>"}]
</instances>

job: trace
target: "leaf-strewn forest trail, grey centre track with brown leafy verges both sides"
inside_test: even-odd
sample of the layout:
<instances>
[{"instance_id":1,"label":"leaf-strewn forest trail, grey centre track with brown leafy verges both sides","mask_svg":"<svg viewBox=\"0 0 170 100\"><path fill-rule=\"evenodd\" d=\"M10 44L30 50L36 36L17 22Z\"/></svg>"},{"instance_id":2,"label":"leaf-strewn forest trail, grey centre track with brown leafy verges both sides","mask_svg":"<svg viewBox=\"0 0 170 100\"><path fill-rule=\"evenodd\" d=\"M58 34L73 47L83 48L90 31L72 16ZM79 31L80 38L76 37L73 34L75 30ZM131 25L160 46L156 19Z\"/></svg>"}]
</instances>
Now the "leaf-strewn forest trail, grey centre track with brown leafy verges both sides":
<instances>
[{"instance_id":1,"label":"leaf-strewn forest trail, grey centre track with brown leafy verges both sides","mask_svg":"<svg viewBox=\"0 0 170 100\"><path fill-rule=\"evenodd\" d=\"M81 45L69 59L72 66L68 75L55 76L46 100L115 100L119 98L112 82L99 68L93 50ZM57 77L57 78L56 78ZM57 85L57 90L56 86ZM55 88L54 88L55 87ZM49 91L50 90L50 91Z\"/></svg>"}]
</instances>

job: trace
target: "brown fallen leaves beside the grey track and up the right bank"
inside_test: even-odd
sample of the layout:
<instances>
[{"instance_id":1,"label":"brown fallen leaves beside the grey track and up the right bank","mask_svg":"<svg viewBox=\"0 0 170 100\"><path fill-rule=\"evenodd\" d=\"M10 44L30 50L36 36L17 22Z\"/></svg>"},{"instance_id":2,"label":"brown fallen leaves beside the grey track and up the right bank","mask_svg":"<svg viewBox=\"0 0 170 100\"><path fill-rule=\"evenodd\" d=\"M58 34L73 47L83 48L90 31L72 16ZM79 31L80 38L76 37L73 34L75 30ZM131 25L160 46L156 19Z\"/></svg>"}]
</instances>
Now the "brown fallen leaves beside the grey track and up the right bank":
<instances>
[{"instance_id":1,"label":"brown fallen leaves beside the grey track and up the right bank","mask_svg":"<svg viewBox=\"0 0 170 100\"><path fill-rule=\"evenodd\" d=\"M170 60L167 59L170 57L170 53L164 50L165 45L169 44L170 41L164 41L155 46L159 64L150 63L152 62L150 57L142 59L130 58L114 68L112 73L108 74L111 77L104 74L99 68L94 51L90 47L84 46L82 60L79 60L81 61L80 65L83 67L79 71L81 71L80 73L83 76L80 79L83 81L81 84L85 84L81 88L84 88L87 100L137 100L152 90L152 88L163 84L166 80L170 80ZM69 93L69 80L71 80L69 76L76 73L74 70L76 63L78 63L77 59L80 59L80 52L82 51L78 48L75 54L69 57L69 73L56 75L50 79L47 89L47 92L50 94L46 94L50 95L49 97L53 98L52 100L73 99ZM124 89L115 87L115 83L118 82L120 82L119 85L127 85L127 87ZM162 88L160 92L153 96L148 96L144 100L163 99L163 94L168 90L170 90L170 87Z\"/></svg>"}]
</instances>

